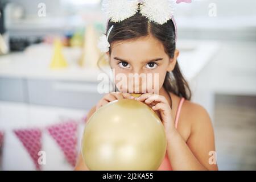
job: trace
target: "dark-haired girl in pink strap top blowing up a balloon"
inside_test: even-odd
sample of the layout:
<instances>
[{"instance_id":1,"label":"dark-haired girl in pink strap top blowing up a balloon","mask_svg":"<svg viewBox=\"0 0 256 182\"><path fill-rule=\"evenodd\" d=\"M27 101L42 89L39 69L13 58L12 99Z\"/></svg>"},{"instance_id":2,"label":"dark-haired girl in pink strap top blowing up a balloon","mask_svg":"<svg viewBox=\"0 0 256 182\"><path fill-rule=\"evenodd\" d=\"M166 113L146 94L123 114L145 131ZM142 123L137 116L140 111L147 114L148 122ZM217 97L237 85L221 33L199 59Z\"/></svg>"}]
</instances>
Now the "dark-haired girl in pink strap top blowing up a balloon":
<instances>
[{"instance_id":1,"label":"dark-haired girl in pink strap top blowing up a balloon","mask_svg":"<svg viewBox=\"0 0 256 182\"><path fill-rule=\"evenodd\" d=\"M139 11L121 22L108 21L110 43L107 55L115 74L159 75L158 96L144 93L133 97L130 90L106 94L88 113L90 116L108 102L131 98L158 112L167 137L166 156L158 170L217 170L213 127L207 111L191 101L191 91L180 72L175 48L175 24L148 21ZM117 80L115 80L117 81ZM134 85L133 85L134 87ZM139 85L141 90L141 85ZM87 170L80 154L77 170Z\"/></svg>"}]
</instances>

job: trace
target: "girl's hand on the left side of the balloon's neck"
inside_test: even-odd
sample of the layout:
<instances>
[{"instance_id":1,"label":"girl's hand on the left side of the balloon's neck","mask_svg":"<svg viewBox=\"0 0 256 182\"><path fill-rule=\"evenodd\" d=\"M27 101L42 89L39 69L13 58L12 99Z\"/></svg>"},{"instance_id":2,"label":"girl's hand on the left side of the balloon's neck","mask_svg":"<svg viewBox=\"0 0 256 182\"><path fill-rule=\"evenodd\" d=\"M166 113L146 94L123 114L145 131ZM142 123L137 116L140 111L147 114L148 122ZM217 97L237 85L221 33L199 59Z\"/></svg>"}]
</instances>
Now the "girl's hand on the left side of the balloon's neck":
<instances>
[{"instance_id":1,"label":"girl's hand on the left side of the balloon's neck","mask_svg":"<svg viewBox=\"0 0 256 182\"><path fill-rule=\"evenodd\" d=\"M119 100L122 98L133 99L134 97L131 96L131 94L129 93L121 93L121 92L112 92L112 93L106 94L104 97L101 98L100 101L98 101L96 105L96 110L98 110L101 106L104 106L105 104L108 104L111 101Z\"/></svg>"}]
</instances>

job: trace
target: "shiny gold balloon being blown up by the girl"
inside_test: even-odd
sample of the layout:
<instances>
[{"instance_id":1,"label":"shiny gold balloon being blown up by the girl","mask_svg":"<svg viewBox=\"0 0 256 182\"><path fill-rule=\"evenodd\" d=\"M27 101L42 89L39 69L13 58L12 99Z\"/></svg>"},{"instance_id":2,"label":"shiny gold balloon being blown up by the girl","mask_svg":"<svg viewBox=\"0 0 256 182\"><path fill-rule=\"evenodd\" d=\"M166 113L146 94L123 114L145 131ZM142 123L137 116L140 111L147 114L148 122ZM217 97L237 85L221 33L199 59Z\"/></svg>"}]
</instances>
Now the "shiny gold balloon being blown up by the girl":
<instances>
[{"instance_id":1,"label":"shiny gold balloon being blown up by the girl","mask_svg":"<svg viewBox=\"0 0 256 182\"><path fill-rule=\"evenodd\" d=\"M166 145L158 115L146 104L125 98L109 102L90 117L82 158L90 170L156 170Z\"/></svg>"}]
</instances>

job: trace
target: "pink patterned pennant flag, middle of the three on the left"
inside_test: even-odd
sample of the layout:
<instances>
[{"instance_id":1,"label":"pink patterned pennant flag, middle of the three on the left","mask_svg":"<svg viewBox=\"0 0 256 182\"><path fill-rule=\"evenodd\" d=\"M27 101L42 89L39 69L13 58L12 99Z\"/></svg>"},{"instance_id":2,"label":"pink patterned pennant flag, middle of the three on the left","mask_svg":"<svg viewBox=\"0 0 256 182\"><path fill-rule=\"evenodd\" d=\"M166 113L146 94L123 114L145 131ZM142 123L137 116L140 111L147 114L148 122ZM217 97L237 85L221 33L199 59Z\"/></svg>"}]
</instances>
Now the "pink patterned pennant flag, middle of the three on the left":
<instances>
[{"instance_id":1,"label":"pink patterned pennant flag, middle of the three on the left","mask_svg":"<svg viewBox=\"0 0 256 182\"><path fill-rule=\"evenodd\" d=\"M41 150L42 143L42 131L40 129L20 129L14 130L14 133L22 142L23 146L30 154L33 162L35 163L36 169L40 170L40 164L38 163L38 152Z\"/></svg>"}]
</instances>

